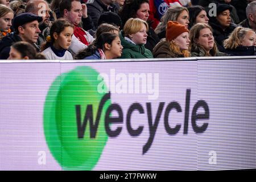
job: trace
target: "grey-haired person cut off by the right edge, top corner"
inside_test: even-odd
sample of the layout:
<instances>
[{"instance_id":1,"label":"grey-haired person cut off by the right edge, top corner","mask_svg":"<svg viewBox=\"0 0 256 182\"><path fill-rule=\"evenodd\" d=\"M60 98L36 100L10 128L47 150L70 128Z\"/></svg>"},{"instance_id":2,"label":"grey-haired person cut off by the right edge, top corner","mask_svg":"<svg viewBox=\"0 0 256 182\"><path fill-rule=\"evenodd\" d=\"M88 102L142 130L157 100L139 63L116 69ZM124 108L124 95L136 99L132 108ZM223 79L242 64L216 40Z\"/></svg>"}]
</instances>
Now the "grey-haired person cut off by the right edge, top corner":
<instances>
[{"instance_id":1,"label":"grey-haired person cut off by the right edge, top corner","mask_svg":"<svg viewBox=\"0 0 256 182\"><path fill-rule=\"evenodd\" d=\"M250 2L246 7L247 18L239 25L245 28L251 28L256 32L256 1Z\"/></svg>"}]
</instances>

